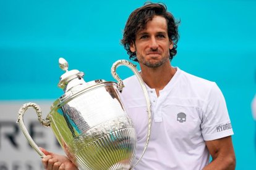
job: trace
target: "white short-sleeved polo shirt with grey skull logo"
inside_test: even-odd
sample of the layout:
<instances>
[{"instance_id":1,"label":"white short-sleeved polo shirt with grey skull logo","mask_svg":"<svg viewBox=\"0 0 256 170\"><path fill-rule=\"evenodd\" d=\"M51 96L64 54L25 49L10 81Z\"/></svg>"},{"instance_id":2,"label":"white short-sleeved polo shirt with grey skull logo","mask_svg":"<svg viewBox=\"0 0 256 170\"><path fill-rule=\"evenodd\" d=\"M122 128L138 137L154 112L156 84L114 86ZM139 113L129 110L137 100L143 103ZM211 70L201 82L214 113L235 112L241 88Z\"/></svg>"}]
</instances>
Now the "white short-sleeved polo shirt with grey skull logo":
<instances>
[{"instance_id":1,"label":"white short-sleeved polo shirt with grey skull logo","mask_svg":"<svg viewBox=\"0 0 256 170\"><path fill-rule=\"evenodd\" d=\"M203 169L210 156L205 140L233 135L226 102L216 83L176 69L159 97L147 86L151 137L134 169ZM121 96L137 132L138 160L147 139L147 105L135 76L125 79L124 85Z\"/></svg>"}]
</instances>

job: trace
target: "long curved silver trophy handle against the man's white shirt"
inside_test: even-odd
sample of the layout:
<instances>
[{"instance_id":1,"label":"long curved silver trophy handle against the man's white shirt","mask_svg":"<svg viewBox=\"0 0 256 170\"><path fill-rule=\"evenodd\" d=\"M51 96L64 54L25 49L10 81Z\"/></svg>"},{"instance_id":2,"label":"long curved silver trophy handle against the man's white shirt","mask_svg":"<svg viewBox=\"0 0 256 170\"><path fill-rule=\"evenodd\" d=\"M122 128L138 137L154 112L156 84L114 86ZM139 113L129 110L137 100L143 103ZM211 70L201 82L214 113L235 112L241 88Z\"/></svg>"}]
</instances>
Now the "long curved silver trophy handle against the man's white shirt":
<instances>
[{"instance_id":1,"label":"long curved silver trophy handle against the man's white shirt","mask_svg":"<svg viewBox=\"0 0 256 170\"><path fill-rule=\"evenodd\" d=\"M111 68L111 73L114 77L114 79L117 80L117 84L118 84L118 90L122 91L122 88L124 87L124 83L122 82L122 80L119 78L119 76L116 73L116 68L119 67L119 65L126 65L127 67L129 67L133 72L134 75L137 76L137 79L139 80L140 86L142 87L143 93L145 95L145 99L147 102L147 111L148 111L148 134L147 134L147 140L146 140L146 144L144 147L144 150L142 152L142 155L140 156L139 160L137 161L137 163L139 163L139 161L142 159L142 156L144 155L147 147L148 147L148 142L150 139L150 131L151 131L151 105L150 105L150 99L148 97L148 92L147 92L147 88L145 86L145 83L142 79L142 77L140 76L139 71L136 69L136 65L134 65L133 63L130 63L127 60L117 60L116 62L113 63L113 66ZM134 166L136 166L136 164L134 164ZM134 166L132 166L132 168L134 168ZM130 168L130 169L132 169Z\"/></svg>"}]
</instances>

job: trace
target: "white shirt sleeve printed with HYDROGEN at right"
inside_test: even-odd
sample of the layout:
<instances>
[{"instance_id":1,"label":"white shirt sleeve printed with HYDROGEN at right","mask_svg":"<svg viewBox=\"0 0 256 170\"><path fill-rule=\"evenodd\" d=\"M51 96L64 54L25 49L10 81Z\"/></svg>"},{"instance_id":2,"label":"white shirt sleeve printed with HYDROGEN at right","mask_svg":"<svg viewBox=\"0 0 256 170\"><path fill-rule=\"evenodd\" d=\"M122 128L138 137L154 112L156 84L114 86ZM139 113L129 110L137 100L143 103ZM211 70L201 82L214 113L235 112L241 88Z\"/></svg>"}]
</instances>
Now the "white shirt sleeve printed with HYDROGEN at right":
<instances>
[{"instance_id":1,"label":"white shirt sleeve printed with HYDROGEN at right","mask_svg":"<svg viewBox=\"0 0 256 170\"><path fill-rule=\"evenodd\" d=\"M216 83L205 99L201 128L204 140L215 140L234 134L226 101Z\"/></svg>"}]
</instances>

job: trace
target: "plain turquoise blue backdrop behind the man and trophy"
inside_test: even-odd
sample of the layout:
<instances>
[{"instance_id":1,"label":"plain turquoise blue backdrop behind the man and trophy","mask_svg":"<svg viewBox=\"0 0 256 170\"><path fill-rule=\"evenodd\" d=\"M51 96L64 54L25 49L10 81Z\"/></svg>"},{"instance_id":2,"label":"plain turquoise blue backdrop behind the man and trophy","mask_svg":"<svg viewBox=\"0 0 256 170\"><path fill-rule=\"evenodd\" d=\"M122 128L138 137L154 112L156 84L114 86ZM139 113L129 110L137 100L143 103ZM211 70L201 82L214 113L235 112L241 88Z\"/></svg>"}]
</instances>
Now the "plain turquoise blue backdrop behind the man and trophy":
<instances>
[{"instance_id":1,"label":"plain turquoise blue backdrop behind the man and trophy","mask_svg":"<svg viewBox=\"0 0 256 170\"><path fill-rule=\"evenodd\" d=\"M85 81L114 80L112 64L129 60L120 44L124 25L144 2L0 1L0 102L58 99L59 57L70 70L85 72ZM250 103L256 92L256 1L161 2L181 20L172 65L220 86L233 124L237 169L255 169ZM117 73L132 75L126 68Z\"/></svg>"}]
</instances>

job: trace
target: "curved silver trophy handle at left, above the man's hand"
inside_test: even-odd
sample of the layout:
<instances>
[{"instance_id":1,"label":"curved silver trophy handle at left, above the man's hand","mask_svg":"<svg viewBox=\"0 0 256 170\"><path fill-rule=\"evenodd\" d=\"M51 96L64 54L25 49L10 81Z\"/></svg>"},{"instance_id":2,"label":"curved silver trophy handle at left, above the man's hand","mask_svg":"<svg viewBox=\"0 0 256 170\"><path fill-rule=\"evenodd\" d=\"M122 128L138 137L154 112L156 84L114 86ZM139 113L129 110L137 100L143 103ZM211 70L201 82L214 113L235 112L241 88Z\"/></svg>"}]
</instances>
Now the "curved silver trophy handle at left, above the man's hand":
<instances>
[{"instance_id":1,"label":"curved silver trophy handle at left, above the man's hand","mask_svg":"<svg viewBox=\"0 0 256 170\"><path fill-rule=\"evenodd\" d=\"M25 135L25 137L27 137L27 140L28 140L29 144L40 155L40 158L43 158L43 157L45 157L45 154L43 152L41 152L38 145L35 144L34 140L30 136L30 134L28 133L27 128L25 127L25 124L24 124L24 121L23 121L23 115L24 115L25 111L27 111L28 108L31 108L31 107L36 110L36 114L38 116L38 120L40 121L40 123L43 126L46 126L46 127L50 126L50 121L49 121L48 118L46 118L46 120L42 119L41 109L40 109L39 105L37 105L36 103L25 103L24 105L22 105L22 107L19 110L17 123L20 124L20 128L22 129L22 132Z\"/></svg>"}]
</instances>

